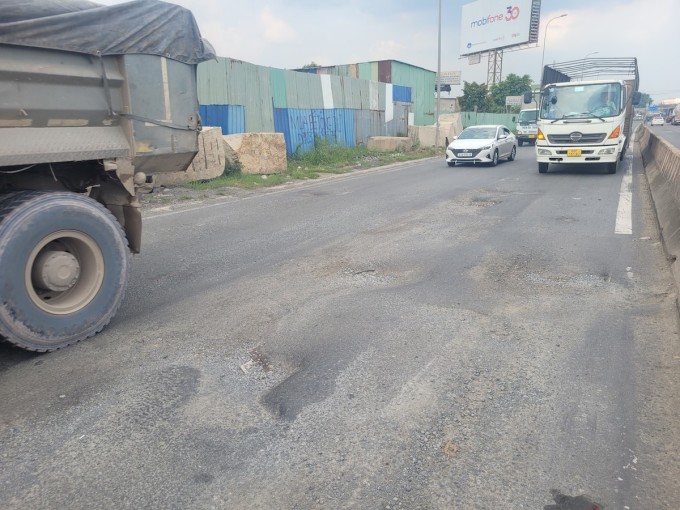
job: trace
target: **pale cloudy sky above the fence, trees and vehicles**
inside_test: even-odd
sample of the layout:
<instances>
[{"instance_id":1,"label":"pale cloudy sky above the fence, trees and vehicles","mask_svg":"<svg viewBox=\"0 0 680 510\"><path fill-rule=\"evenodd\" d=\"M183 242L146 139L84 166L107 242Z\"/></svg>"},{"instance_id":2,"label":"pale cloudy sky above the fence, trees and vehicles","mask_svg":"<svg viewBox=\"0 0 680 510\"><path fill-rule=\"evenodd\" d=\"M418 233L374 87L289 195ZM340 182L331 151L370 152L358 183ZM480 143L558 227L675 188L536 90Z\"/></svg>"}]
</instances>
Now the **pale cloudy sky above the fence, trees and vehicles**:
<instances>
[{"instance_id":1,"label":"pale cloudy sky above the fence, trees and vehicles","mask_svg":"<svg viewBox=\"0 0 680 510\"><path fill-rule=\"evenodd\" d=\"M194 13L201 34L221 57L280 69L399 60L437 71L441 62L443 72L460 71L463 81L487 81L486 55L473 65L460 57L462 5L468 0L441 0L441 18L439 0L172 3ZM552 21L546 32L546 23L561 14L567 16ZM657 103L680 98L679 19L678 0L542 0L538 43L506 50L501 76L528 74L538 81L542 58L549 64L585 56L637 57L641 92ZM462 84L452 87L452 97L461 94Z\"/></svg>"}]
</instances>

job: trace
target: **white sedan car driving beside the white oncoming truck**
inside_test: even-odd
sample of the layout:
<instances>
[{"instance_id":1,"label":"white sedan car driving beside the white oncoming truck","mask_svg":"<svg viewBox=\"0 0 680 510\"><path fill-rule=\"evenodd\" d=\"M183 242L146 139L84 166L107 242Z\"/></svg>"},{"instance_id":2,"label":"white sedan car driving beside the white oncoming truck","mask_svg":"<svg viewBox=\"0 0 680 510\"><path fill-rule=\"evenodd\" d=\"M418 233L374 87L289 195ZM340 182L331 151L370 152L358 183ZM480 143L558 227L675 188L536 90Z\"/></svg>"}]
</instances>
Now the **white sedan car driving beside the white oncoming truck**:
<instances>
[{"instance_id":1,"label":"white sedan car driving beside the white oncoming truck","mask_svg":"<svg viewBox=\"0 0 680 510\"><path fill-rule=\"evenodd\" d=\"M461 131L446 148L446 163L486 163L496 166L499 159L515 159L517 137L502 125L470 126Z\"/></svg>"}]
</instances>

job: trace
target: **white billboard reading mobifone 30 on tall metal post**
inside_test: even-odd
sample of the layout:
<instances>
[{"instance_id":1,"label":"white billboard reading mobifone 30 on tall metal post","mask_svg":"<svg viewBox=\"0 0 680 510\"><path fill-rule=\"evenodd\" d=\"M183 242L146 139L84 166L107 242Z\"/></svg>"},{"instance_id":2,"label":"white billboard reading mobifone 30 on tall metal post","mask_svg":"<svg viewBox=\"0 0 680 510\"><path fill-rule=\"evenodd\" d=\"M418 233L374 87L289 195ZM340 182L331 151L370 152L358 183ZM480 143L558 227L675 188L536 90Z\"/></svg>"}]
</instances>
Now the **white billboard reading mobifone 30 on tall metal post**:
<instances>
[{"instance_id":1,"label":"white billboard reading mobifone 30 on tall metal post","mask_svg":"<svg viewBox=\"0 0 680 510\"><path fill-rule=\"evenodd\" d=\"M541 0L478 0L463 5L460 56L538 42Z\"/></svg>"}]
</instances>

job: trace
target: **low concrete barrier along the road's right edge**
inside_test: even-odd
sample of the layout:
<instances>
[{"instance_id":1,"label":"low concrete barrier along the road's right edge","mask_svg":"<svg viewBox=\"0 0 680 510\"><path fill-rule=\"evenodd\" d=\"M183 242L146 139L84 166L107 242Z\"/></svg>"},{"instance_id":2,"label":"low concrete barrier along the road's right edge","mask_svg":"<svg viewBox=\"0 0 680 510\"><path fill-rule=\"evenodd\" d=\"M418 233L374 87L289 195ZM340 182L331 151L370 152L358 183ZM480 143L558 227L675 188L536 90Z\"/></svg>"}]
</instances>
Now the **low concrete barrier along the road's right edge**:
<instances>
[{"instance_id":1,"label":"low concrete barrier along the road's right edge","mask_svg":"<svg viewBox=\"0 0 680 510\"><path fill-rule=\"evenodd\" d=\"M680 149L658 138L646 125L638 128L636 136L664 249L680 288Z\"/></svg>"}]
</instances>

